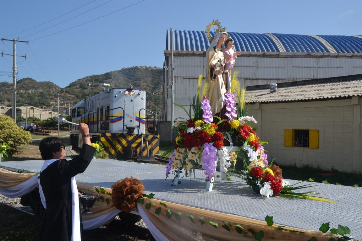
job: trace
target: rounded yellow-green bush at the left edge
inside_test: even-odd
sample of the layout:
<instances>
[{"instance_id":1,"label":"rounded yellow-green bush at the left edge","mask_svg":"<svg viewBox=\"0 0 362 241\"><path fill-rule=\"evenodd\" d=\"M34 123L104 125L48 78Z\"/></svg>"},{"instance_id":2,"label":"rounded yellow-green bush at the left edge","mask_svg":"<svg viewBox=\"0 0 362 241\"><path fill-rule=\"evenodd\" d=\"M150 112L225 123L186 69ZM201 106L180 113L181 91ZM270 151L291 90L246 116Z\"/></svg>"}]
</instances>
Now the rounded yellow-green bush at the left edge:
<instances>
[{"instance_id":1,"label":"rounded yellow-green bush at the left edge","mask_svg":"<svg viewBox=\"0 0 362 241\"><path fill-rule=\"evenodd\" d=\"M0 143L6 142L10 146L7 151L9 156L20 152L18 148L21 144L31 142L30 132L24 131L22 127L18 127L10 116L0 115Z\"/></svg>"}]
</instances>

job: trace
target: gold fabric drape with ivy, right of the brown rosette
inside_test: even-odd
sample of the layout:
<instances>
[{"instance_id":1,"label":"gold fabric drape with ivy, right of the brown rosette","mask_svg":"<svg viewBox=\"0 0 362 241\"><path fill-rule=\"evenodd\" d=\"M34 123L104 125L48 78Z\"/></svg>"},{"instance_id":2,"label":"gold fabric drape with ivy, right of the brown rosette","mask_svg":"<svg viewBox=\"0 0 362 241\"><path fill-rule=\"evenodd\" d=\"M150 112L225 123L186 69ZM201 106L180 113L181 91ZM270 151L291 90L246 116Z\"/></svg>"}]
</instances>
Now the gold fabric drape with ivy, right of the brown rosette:
<instances>
[{"instance_id":1,"label":"gold fabric drape with ivy, right of the brown rosette","mask_svg":"<svg viewBox=\"0 0 362 241\"><path fill-rule=\"evenodd\" d=\"M331 237L336 238L334 234L322 233L320 231L311 231L299 228L286 227L283 225L274 224L269 227L266 221L260 221L241 216L225 214L215 211L210 211L202 208L195 208L185 205L180 205L172 202L165 202L163 200L151 199L156 205L151 205L150 210L146 210L146 204L138 205L143 208L153 225L166 237L169 241L178 240L193 240L193 241L241 241L241 240L255 240L254 233L260 231L264 232L263 241L269 240L295 240L306 241L311 237L316 237L317 240L328 240ZM150 200L145 199L146 203ZM167 207L160 205L164 203ZM160 214L156 214L156 209L161 208ZM168 218L167 210L172 211L171 218ZM180 212L178 219L175 214ZM193 218L190 218L190 215ZM200 218L205 218L201 225ZM193 221L191 221L191 219ZM218 227L213 227L209 221L218 223ZM228 225L231 224L231 227ZM235 224L243 227L242 233L237 233ZM230 231L223 228L226 225ZM278 226L285 230L278 230ZM251 231L252 230L252 231Z\"/></svg>"}]
</instances>

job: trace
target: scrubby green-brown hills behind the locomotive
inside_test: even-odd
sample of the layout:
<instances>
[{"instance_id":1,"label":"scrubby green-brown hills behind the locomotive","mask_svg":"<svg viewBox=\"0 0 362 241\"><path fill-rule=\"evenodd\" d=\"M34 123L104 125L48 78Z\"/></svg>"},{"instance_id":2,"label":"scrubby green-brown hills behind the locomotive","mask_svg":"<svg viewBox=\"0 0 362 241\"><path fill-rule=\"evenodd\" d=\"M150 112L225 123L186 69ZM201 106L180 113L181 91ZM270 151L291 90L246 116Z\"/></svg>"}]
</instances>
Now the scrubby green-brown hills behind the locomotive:
<instances>
[{"instance_id":1,"label":"scrubby green-brown hills behind the locomotive","mask_svg":"<svg viewBox=\"0 0 362 241\"><path fill-rule=\"evenodd\" d=\"M147 66L133 66L112 72L87 76L60 88L50 81L38 82L32 78L17 81L17 106L34 106L57 112L59 105L74 106L82 99L104 91L105 88L129 87L146 90L146 108L159 109L162 100L163 69ZM108 84L108 85L104 85ZM13 84L0 82L0 105L12 107Z\"/></svg>"}]
</instances>

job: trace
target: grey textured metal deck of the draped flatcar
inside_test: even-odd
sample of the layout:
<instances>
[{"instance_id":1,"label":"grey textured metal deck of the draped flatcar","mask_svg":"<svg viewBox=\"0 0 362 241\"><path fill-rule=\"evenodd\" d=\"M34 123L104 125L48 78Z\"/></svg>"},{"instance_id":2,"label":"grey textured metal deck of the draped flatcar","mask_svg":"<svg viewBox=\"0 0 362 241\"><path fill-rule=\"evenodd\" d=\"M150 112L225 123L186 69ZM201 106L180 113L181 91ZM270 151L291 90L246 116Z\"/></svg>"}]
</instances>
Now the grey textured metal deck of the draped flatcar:
<instances>
[{"instance_id":1,"label":"grey textured metal deck of the draped flatcar","mask_svg":"<svg viewBox=\"0 0 362 241\"><path fill-rule=\"evenodd\" d=\"M42 164L43 160L1 162L0 167L39 172ZM143 182L147 194L154 193L155 198L164 201L257 220L265 220L268 215L273 216L274 223L315 231L321 224L330 222L331 228L338 228L338 224L349 227L352 232L349 235L355 240L362 240L362 188L315 183L316 186L304 189L336 203L262 198L235 177L232 181L215 178L214 189L206 191L202 170L196 170L196 178L180 179L181 184L177 186L171 186L172 175L165 179L165 171L165 165L93 159L87 170L76 176L76 180L110 188L116 181L133 176ZM289 181L291 184L298 182Z\"/></svg>"}]
</instances>

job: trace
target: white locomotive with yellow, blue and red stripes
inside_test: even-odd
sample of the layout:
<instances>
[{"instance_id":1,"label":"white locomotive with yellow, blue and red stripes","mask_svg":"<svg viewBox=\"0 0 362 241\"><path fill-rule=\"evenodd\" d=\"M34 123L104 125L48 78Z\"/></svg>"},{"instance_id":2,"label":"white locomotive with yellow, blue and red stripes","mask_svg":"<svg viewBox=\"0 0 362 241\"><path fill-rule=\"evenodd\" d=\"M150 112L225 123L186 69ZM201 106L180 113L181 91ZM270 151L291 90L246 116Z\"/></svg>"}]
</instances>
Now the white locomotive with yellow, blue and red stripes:
<instances>
[{"instance_id":1,"label":"white locomotive with yellow, blue and red stripes","mask_svg":"<svg viewBox=\"0 0 362 241\"><path fill-rule=\"evenodd\" d=\"M88 124L91 142L101 142L111 159L146 162L159 151L156 115L146 109L141 89L105 89L81 100L72 107L72 122ZM82 146L77 125L71 125L70 145L78 151Z\"/></svg>"}]
</instances>

